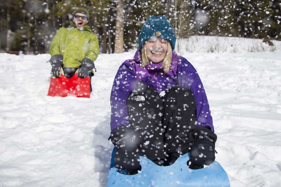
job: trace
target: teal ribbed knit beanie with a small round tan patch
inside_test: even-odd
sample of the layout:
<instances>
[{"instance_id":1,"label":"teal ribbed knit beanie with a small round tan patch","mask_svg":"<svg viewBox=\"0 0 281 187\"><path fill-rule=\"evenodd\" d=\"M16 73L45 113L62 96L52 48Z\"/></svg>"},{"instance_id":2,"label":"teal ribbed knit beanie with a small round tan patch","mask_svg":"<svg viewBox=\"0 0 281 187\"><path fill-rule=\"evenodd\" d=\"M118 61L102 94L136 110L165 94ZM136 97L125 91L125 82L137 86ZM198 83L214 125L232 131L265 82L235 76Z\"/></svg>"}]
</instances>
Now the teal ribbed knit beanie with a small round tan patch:
<instances>
[{"instance_id":1,"label":"teal ribbed knit beanie with a small round tan patch","mask_svg":"<svg viewBox=\"0 0 281 187\"><path fill-rule=\"evenodd\" d=\"M170 42L172 49L175 49L175 32L165 16L150 16L141 28L139 35L139 48L152 36L163 38Z\"/></svg>"}]
</instances>

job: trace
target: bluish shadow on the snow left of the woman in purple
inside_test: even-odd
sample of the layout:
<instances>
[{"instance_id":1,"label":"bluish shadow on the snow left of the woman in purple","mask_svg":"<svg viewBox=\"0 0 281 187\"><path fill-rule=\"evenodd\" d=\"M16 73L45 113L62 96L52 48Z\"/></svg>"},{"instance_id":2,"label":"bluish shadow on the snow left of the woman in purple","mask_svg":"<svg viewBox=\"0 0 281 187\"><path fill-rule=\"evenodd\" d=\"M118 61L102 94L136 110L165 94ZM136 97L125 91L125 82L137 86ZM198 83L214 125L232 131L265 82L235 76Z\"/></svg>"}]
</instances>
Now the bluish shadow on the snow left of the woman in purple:
<instances>
[{"instance_id":1,"label":"bluish shadow on the snow left of the woman in purple","mask_svg":"<svg viewBox=\"0 0 281 187\"><path fill-rule=\"evenodd\" d=\"M110 168L111 153L113 144L108 140L110 136L110 113L104 121L97 124L94 129L91 146L94 147L94 172L99 172L99 186L106 186Z\"/></svg>"}]
</instances>

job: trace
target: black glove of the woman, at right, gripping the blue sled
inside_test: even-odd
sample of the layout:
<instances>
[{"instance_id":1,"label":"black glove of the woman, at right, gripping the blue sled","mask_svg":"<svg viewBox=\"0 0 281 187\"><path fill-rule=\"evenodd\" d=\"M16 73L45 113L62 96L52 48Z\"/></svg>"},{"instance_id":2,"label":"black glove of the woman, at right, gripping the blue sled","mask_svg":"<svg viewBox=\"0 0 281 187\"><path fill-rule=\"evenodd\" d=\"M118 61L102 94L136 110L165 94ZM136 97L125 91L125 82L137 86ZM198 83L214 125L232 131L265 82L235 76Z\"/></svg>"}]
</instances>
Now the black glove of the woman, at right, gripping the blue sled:
<instances>
[{"instance_id":1,"label":"black glove of the woman, at right, gripping the blue sled","mask_svg":"<svg viewBox=\"0 0 281 187\"><path fill-rule=\"evenodd\" d=\"M193 133L194 145L190 150L190 162L187 165L190 169L204 168L215 160L215 142L217 135L206 127L199 127Z\"/></svg>"}]
</instances>

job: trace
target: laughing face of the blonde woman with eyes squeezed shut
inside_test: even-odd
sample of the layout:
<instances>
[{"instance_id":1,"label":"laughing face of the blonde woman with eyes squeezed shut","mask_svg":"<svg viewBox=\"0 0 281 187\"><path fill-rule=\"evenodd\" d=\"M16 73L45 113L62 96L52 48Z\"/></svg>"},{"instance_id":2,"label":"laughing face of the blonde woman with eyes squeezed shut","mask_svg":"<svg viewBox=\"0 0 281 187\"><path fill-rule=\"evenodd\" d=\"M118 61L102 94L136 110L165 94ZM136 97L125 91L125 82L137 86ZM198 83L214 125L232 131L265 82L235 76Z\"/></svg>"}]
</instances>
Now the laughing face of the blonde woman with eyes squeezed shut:
<instances>
[{"instance_id":1,"label":"laughing face of the blonde woman with eyes squeezed shut","mask_svg":"<svg viewBox=\"0 0 281 187\"><path fill-rule=\"evenodd\" d=\"M151 38L145 43L145 53L149 61L159 63L164 60L167 49L168 41L162 38Z\"/></svg>"}]
</instances>

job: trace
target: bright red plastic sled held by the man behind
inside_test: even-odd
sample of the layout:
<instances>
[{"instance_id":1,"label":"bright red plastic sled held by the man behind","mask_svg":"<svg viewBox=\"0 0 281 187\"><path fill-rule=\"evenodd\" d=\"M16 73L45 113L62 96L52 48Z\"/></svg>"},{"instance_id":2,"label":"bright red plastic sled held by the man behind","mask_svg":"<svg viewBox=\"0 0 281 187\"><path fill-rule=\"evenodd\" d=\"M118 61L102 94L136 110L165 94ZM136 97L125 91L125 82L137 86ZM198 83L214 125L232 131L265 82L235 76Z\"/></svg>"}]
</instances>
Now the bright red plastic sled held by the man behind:
<instances>
[{"instance_id":1,"label":"bright red plastic sled held by the man behind","mask_svg":"<svg viewBox=\"0 0 281 187\"><path fill-rule=\"evenodd\" d=\"M79 78L74 74L71 78L61 75L59 78L52 78L48 96L76 96L90 98L90 77Z\"/></svg>"}]
</instances>

